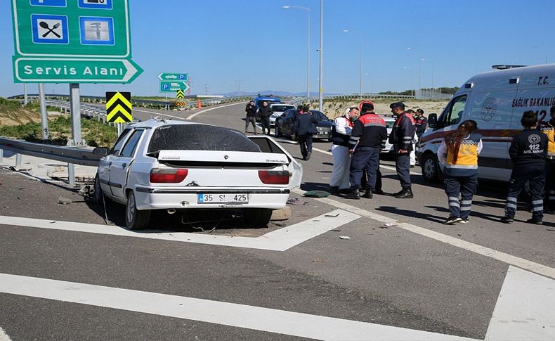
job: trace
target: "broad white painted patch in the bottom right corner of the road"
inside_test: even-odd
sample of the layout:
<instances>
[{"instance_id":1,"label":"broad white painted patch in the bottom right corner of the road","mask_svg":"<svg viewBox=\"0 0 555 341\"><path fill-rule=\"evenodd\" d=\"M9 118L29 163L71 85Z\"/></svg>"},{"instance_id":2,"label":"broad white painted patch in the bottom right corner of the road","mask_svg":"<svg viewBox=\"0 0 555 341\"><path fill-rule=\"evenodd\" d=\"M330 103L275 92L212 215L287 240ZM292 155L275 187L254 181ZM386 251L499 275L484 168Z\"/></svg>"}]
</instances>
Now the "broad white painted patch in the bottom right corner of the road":
<instances>
[{"instance_id":1,"label":"broad white painted patch in the bottom right corner of the road","mask_svg":"<svg viewBox=\"0 0 555 341\"><path fill-rule=\"evenodd\" d=\"M555 340L555 281L509 266L485 340Z\"/></svg>"}]
</instances>

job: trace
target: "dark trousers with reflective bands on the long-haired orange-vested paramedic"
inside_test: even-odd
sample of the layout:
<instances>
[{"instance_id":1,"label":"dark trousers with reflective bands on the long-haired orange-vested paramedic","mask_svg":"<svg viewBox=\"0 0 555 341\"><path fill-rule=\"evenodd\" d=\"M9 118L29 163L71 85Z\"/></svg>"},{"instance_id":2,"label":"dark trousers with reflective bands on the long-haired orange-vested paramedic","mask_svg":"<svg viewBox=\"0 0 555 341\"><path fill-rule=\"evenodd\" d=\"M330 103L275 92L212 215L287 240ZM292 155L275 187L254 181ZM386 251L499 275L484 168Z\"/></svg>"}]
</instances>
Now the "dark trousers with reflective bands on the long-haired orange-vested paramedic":
<instances>
[{"instance_id":1,"label":"dark trousers with reflective bands on the long-haired orange-vested paramedic","mask_svg":"<svg viewBox=\"0 0 555 341\"><path fill-rule=\"evenodd\" d=\"M450 217L467 219L472 208L472 196L478 186L478 174L473 176L445 175L445 193L449 200ZM461 200L459 200L459 194Z\"/></svg>"}]
</instances>

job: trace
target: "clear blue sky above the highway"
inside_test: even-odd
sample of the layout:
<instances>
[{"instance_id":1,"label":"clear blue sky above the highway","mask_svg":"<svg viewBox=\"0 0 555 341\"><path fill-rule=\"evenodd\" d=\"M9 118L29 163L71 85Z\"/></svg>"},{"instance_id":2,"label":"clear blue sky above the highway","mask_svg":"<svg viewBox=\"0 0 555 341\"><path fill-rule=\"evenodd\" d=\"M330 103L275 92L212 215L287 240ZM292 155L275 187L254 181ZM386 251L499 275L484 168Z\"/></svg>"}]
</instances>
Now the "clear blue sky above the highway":
<instances>
[{"instance_id":1,"label":"clear blue sky above the highway","mask_svg":"<svg viewBox=\"0 0 555 341\"><path fill-rule=\"evenodd\" d=\"M144 72L131 84L81 84L82 95L160 96L160 72L188 73L191 94L306 94L308 15L318 94L320 0L129 0L129 8L132 59ZM552 0L323 0L323 91L358 94L361 55L365 93L460 86L497 64L555 63L551 13ZM0 1L0 18L7 97L23 93L13 82L11 0ZM69 94L68 84L45 90Z\"/></svg>"}]
</instances>

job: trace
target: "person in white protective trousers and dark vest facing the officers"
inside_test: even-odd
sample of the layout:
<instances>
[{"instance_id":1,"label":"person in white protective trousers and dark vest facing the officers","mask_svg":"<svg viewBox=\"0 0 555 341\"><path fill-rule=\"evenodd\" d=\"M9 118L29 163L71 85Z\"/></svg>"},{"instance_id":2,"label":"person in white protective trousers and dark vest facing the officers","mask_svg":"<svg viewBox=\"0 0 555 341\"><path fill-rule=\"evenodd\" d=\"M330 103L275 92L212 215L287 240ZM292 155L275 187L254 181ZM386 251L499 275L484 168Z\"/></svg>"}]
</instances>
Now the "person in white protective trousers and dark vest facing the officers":
<instances>
[{"instance_id":1,"label":"person in white protective trousers and dark vest facing the officers","mask_svg":"<svg viewBox=\"0 0 555 341\"><path fill-rule=\"evenodd\" d=\"M349 138L353 130L353 122L358 119L358 108L349 108L345 115L337 117L332 125L332 156L334 168L332 179L329 180L329 191L339 194L341 190L349 188L349 168L351 154L349 154Z\"/></svg>"}]
</instances>

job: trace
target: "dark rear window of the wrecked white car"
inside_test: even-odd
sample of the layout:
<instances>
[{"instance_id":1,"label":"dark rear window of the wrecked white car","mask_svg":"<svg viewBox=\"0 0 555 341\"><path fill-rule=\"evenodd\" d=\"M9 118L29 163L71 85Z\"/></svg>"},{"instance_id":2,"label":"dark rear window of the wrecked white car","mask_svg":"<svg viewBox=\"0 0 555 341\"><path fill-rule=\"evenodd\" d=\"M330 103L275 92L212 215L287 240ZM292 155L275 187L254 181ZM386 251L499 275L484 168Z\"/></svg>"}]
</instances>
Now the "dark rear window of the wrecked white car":
<instances>
[{"instance_id":1,"label":"dark rear window of the wrecked white car","mask_svg":"<svg viewBox=\"0 0 555 341\"><path fill-rule=\"evenodd\" d=\"M260 152L240 131L207 124L169 124L155 129L147 153L159 150Z\"/></svg>"}]
</instances>

